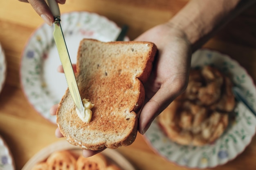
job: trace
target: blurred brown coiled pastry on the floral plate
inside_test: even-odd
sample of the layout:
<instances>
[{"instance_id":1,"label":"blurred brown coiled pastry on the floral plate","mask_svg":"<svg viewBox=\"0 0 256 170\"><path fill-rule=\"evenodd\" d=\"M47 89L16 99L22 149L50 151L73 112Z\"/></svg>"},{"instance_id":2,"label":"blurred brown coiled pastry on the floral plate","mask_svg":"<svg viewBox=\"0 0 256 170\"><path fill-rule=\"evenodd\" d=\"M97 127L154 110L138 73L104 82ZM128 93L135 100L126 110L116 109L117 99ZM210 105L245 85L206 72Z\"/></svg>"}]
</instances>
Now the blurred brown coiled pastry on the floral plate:
<instances>
[{"instance_id":1,"label":"blurred brown coiled pastry on the floral plate","mask_svg":"<svg viewBox=\"0 0 256 170\"><path fill-rule=\"evenodd\" d=\"M231 88L231 80L217 68L191 70L186 91L158 116L159 125L178 144L212 143L227 128L234 110Z\"/></svg>"}]
</instances>

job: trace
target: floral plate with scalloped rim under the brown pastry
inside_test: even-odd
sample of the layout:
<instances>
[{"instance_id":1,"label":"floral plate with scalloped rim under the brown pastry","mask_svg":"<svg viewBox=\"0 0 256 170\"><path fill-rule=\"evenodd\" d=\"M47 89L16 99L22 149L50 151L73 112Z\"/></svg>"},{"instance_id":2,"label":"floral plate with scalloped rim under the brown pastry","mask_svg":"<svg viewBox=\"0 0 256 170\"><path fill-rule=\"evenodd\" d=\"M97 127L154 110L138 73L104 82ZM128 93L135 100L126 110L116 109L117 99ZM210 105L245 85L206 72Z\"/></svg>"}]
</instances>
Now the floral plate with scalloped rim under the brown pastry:
<instances>
[{"instance_id":1,"label":"floral plate with scalloped rim under the brown pastry","mask_svg":"<svg viewBox=\"0 0 256 170\"><path fill-rule=\"evenodd\" d=\"M198 50L192 55L193 68L209 64L231 76L233 82L243 90L247 100L255 109L256 88L252 78L238 62L227 55L207 49ZM227 163L243 152L255 134L256 117L242 103L237 104L234 112L236 117L229 123L223 135L207 146L182 146L169 140L156 120L144 137L159 155L169 161L189 168L212 168Z\"/></svg>"}]
</instances>

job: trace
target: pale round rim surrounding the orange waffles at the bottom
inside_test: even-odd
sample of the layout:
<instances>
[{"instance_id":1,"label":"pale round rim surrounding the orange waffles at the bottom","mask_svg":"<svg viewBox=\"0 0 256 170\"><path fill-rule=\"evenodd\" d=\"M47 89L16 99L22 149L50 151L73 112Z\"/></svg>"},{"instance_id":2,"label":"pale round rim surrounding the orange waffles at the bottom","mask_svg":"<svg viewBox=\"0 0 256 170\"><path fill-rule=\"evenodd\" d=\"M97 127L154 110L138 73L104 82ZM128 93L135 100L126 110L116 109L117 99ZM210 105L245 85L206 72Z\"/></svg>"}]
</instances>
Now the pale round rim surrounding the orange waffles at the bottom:
<instances>
[{"instance_id":1,"label":"pale round rim surrounding the orange waffles at the bottom","mask_svg":"<svg viewBox=\"0 0 256 170\"><path fill-rule=\"evenodd\" d=\"M27 161L21 170L31 170L36 163L45 161L45 159L47 159L47 157L49 157L49 155L51 155L53 152L60 150L69 150L74 154L82 155L82 150L78 146L71 145L66 140L61 140L40 150L38 153L36 153L36 155L31 157L29 161ZM119 152L111 149L105 149L101 153L110 161L122 168L122 170L135 170L132 164Z\"/></svg>"}]
</instances>

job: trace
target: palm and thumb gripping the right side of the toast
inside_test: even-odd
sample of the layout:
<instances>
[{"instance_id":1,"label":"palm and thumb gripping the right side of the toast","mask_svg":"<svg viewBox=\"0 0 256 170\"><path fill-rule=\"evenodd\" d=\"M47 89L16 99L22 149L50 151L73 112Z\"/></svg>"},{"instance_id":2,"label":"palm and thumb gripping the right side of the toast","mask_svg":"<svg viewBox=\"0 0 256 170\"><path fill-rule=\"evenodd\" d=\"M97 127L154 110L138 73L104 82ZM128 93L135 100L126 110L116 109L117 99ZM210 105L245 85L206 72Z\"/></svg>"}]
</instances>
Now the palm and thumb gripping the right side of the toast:
<instances>
[{"instance_id":1,"label":"palm and thumb gripping the right side of the toast","mask_svg":"<svg viewBox=\"0 0 256 170\"><path fill-rule=\"evenodd\" d=\"M185 33L169 23L155 26L135 40L153 42L158 49L153 71L144 84L146 99L138 129L144 134L157 115L185 90L191 64L191 44Z\"/></svg>"}]
</instances>

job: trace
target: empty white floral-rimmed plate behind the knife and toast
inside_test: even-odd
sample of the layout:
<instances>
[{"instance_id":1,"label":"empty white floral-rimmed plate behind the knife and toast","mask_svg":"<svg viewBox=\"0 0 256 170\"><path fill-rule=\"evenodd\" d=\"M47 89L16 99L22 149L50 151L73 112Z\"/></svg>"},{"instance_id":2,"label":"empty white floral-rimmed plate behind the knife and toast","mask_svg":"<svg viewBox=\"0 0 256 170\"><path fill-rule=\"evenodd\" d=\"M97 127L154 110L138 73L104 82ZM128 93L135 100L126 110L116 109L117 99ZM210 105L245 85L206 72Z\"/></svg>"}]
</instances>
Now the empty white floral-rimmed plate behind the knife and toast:
<instances>
[{"instance_id":1,"label":"empty white floral-rimmed plate behind the knife and toast","mask_svg":"<svg viewBox=\"0 0 256 170\"><path fill-rule=\"evenodd\" d=\"M72 63L76 63L79 43L83 38L103 42L115 41L121 29L114 22L96 13L72 12L61 15L61 26ZM37 29L22 53L20 77L23 91L34 108L54 124L56 116L49 109L58 104L67 89L53 39L54 26L43 24ZM128 38L126 38L128 39Z\"/></svg>"}]
</instances>

